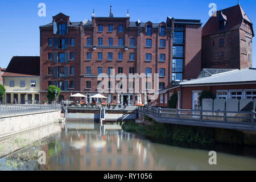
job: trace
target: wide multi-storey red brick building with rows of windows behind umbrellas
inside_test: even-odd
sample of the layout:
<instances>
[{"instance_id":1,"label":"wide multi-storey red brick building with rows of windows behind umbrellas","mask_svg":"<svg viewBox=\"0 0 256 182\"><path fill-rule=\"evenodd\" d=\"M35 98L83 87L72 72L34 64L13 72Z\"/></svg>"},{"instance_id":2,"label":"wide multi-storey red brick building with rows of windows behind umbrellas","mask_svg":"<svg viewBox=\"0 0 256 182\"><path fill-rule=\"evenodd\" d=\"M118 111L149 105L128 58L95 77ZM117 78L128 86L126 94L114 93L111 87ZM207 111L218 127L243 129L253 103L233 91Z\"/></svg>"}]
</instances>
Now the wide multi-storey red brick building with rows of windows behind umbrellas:
<instances>
[{"instance_id":1,"label":"wide multi-storey red brick building with rows of windows behind umbrellas","mask_svg":"<svg viewBox=\"0 0 256 182\"><path fill-rule=\"evenodd\" d=\"M109 102L117 102L117 93L122 104L138 102L139 93L142 102L151 102L148 96L158 86L161 90L199 75L201 24L170 17L161 23L132 22L129 13L114 17L111 9L107 17L93 12L92 20L84 22L53 16L52 23L40 27L42 100L47 100L48 85L56 85L64 100L77 92L91 96L101 88ZM113 76L118 73L125 76ZM142 73L149 79L139 78Z\"/></svg>"}]
</instances>

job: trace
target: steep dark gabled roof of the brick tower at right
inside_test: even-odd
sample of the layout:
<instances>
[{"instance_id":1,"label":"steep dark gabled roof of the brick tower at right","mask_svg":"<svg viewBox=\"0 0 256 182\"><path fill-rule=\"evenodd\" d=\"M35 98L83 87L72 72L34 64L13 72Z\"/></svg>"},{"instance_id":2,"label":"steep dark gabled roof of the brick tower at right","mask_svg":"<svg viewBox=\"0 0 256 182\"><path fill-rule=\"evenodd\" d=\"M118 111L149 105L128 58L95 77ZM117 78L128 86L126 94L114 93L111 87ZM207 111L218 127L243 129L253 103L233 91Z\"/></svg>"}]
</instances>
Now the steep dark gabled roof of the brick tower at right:
<instances>
[{"instance_id":1,"label":"steep dark gabled roof of the brick tower at right","mask_svg":"<svg viewBox=\"0 0 256 182\"><path fill-rule=\"evenodd\" d=\"M219 20L223 19L225 19L227 23L225 28L219 31ZM217 11L217 16L211 16L208 22L204 25L202 36L217 34L218 32L225 32L240 28L243 20L251 23L251 20L245 14L245 11L243 11L240 5Z\"/></svg>"}]
</instances>

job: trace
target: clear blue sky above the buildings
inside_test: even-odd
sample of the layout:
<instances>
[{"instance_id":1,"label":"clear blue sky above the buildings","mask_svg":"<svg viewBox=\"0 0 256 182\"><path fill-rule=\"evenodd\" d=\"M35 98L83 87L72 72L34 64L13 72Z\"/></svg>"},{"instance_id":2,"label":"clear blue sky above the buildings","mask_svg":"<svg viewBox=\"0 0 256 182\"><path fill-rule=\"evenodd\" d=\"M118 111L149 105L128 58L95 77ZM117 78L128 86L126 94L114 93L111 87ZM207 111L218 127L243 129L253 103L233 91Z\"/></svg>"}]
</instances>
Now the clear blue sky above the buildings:
<instances>
[{"instance_id":1,"label":"clear blue sky above the buildings","mask_svg":"<svg viewBox=\"0 0 256 182\"><path fill-rule=\"evenodd\" d=\"M46 17L38 16L38 4L46 4ZM142 22L162 22L167 16L177 19L201 19L206 23L209 19L209 3L216 3L217 10L237 5L237 0L23 0L0 2L0 67L6 68L13 56L39 56L39 26L52 22L52 16L64 13L71 16L71 21L79 22L91 19L92 10L96 16L107 16L110 5L114 16L126 16L129 9L130 20L140 19ZM245 13L251 21L256 22L256 1L240 0ZM254 28L255 29L255 28ZM253 67L256 67L253 39Z\"/></svg>"}]
</instances>

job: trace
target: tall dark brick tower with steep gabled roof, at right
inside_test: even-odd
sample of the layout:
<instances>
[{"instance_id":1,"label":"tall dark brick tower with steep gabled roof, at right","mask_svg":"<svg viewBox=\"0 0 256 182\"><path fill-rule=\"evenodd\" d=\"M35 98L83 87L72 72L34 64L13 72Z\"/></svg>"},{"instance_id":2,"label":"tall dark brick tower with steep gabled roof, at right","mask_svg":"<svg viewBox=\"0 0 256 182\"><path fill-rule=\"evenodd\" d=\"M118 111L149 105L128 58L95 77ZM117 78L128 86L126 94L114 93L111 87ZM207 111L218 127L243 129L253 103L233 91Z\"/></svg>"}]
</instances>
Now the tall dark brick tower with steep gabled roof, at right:
<instances>
[{"instance_id":1,"label":"tall dark brick tower with steep gabled roof, at right","mask_svg":"<svg viewBox=\"0 0 256 182\"><path fill-rule=\"evenodd\" d=\"M202 68L242 69L252 65L253 24L238 4L217 11L202 31Z\"/></svg>"}]
</instances>

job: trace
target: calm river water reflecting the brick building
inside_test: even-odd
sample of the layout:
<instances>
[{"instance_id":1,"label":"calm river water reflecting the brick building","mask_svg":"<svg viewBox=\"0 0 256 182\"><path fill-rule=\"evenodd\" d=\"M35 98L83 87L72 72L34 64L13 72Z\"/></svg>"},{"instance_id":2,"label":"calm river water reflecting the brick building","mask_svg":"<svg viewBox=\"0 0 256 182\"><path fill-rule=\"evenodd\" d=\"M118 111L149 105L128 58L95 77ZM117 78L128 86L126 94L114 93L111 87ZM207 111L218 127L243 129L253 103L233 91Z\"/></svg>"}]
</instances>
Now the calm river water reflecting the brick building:
<instances>
[{"instance_id":1,"label":"calm river water reflecting the brick building","mask_svg":"<svg viewBox=\"0 0 256 182\"><path fill-rule=\"evenodd\" d=\"M153 141L122 131L118 125L82 122L55 123L44 131L34 130L28 138L46 131L47 137L43 135L39 146L26 148L30 152L46 152L46 164L39 166L39 170L256 170L255 147L225 144L202 147ZM5 147L7 143L11 142L5 142ZM217 152L216 165L209 164L211 150ZM10 167L6 163L7 157L0 159L0 169L36 169L35 161L27 168Z\"/></svg>"}]
</instances>

